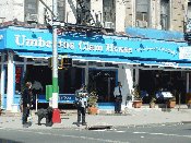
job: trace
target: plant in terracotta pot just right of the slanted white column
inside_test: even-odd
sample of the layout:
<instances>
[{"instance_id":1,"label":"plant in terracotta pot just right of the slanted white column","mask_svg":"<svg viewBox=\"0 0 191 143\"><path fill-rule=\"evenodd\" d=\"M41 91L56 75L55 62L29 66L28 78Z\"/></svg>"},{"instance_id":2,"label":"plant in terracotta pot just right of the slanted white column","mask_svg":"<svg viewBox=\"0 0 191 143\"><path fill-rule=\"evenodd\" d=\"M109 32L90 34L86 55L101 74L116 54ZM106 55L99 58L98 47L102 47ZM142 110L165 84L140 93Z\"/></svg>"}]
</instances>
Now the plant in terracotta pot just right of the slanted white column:
<instances>
[{"instance_id":1,"label":"plant in terracotta pot just right of the slanted white column","mask_svg":"<svg viewBox=\"0 0 191 143\"><path fill-rule=\"evenodd\" d=\"M133 100L134 108L141 108L143 100L141 97L141 92L140 92L139 85L135 85L134 91L132 93L134 95L134 100Z\"/></svg>"}]
</instances>

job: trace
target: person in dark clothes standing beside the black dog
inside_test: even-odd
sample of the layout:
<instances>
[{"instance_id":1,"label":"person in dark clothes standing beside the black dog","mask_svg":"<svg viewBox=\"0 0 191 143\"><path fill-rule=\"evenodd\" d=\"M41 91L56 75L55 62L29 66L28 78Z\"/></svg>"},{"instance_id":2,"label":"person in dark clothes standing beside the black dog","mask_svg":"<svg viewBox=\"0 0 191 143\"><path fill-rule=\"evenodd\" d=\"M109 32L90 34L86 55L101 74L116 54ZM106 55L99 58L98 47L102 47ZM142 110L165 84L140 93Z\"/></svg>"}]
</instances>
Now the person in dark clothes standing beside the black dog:
<instances>
[{"instance_id":1,"label":"person in dark clothes standing beside the black dog","mask_svg":"<svg viewBox=\"0 0 191 143\"><path fill-rule=\"evenodd\" d=\"M31 94L31 87L32 84L31 82L27 82L23 92L23 127L27 127L27 117L29 114L29 107L31 107L31 98L32 98L32 94Z\"/></svg>"}]
</instances>

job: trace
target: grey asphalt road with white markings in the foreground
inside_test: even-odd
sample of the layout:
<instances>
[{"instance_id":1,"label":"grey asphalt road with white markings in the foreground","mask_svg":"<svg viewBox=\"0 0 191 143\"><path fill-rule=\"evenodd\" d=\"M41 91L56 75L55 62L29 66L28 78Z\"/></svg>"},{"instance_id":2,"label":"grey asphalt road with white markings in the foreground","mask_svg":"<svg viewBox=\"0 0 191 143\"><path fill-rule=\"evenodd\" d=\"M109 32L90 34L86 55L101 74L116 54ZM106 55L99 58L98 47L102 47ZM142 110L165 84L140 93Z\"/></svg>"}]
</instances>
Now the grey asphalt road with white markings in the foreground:
<instances>
[{"instance_id":1,"label":"grey asphalt road with white markings in the foreground","mask_svg":"<svg viewBox=\"0 0 191 143\"><path fill-rule=\"evenodd\" d=\"M191 143L191 123L147 124L107 130L0 129L0 143Z\"/></svg>"}]
</instances>

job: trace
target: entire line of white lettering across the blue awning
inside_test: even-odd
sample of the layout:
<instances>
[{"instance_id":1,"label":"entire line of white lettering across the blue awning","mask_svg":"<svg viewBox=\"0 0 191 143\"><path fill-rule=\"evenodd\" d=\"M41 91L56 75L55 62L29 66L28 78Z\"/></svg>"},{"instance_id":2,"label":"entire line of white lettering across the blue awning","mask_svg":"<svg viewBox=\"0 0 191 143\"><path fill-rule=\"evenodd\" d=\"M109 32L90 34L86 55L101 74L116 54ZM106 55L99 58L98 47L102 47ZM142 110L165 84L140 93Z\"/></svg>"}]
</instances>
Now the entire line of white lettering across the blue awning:
<instances>
[{"instance_id":1,"label":"entire line of white lettering across the blue awning","mask_svg":"<svg viewBox=\"0 0 191 143\"><path fill-rule=\"evenodd\" d=\"M1 35L0 35L1 37ZM25 35L14 35L15 37L15 43L19 46L33 46L33 47L52 47L52 41L51 40L44 40L41 37L37 37L35 39L33 38L26 38ZM58 48L64 48L64 49L75 49L75 44L70 43L70 41L63 41L64 39L60 39L58 41ZM114 44L105 44L105 45L91 45L89 41L79 41L79 49L82 51L103 51L105 47L106 52L118 52L118 53L132 53L132 48L129 47L117 47L114 46ZM167 53L171 53L172 56L176 56L177 52L176 50L171 50L168 48L163 48L163 47L152 47L148 48L147 46L143 47L140 46L138 49L135 49L138 52L139 51L150 51L150 50L155 50L155 51L165 51ZM184 51L190 51L191 49L184 49Z\"/></svg>"}]
</instances>

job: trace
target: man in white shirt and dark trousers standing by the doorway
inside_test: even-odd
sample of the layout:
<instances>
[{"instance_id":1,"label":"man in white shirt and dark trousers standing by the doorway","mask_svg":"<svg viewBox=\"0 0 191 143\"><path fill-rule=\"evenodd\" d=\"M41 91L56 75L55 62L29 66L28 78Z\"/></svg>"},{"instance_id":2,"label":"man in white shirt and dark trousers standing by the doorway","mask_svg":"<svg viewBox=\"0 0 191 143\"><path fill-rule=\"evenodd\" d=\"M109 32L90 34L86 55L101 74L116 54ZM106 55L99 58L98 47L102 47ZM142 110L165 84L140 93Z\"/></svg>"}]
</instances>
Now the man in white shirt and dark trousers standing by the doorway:
<instances>
[{"instance_id":1,"label":"man in white shirt and dark trousers standing by the doorway","mask_svg":"<svg viewBox=\"0 0 191 143\"><path fill-rule=\"evenodd\" d=\"M121 92L122 92L122 85L120 82L118 82L118 86L115 87L115 92L114 92L114 95L116 98L115 114L121 114L120 112L121 111L121 102L122 102Z\"/></svg>"}]
</instances>

